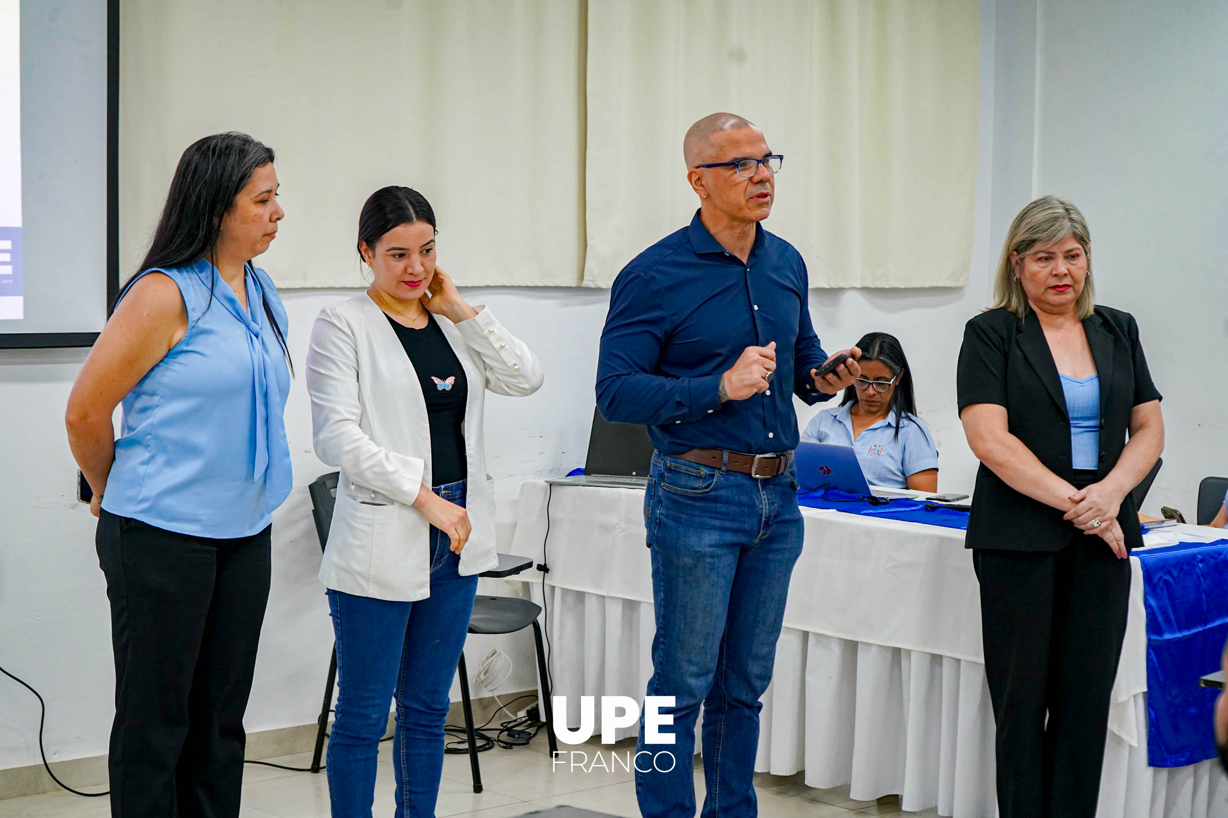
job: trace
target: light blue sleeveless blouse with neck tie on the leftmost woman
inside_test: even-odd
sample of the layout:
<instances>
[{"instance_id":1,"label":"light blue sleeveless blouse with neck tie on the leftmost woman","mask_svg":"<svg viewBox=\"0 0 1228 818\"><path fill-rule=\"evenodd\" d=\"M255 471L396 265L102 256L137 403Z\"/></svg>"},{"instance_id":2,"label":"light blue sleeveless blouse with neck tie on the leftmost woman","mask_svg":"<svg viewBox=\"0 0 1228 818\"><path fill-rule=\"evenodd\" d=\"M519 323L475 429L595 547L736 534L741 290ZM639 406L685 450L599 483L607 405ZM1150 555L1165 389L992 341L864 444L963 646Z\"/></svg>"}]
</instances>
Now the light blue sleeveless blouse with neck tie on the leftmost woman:
<instances>
[{"instance_id":1,"label":"light blue sleeveless blouse with neck tie on the leftmost woman","mask_svg":"<svg viewBox=\"0 0 1228 818\"><path fill-rule=\"evenodd\" d=\"M248 309L208 261L158 272L178 285L188 331L123 400L102 508L199 537L258 533L292 483L290 372L264 310L285 332L281 298L251 265Z\"/></svg>"}]
</instances>

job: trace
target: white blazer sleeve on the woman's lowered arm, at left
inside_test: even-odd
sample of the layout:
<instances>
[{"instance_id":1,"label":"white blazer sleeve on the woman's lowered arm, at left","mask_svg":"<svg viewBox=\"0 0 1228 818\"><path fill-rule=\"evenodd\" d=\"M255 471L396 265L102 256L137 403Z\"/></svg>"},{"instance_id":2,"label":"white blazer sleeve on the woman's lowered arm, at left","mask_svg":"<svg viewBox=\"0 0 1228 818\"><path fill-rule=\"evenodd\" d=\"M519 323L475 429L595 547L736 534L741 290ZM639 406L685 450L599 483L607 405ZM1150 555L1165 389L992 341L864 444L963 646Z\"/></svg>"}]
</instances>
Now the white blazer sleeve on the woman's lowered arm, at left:
<instances>
[{"instance_id":1,"label":"white blazer sleeve on the woman's lowered arm, at left","mask_svg":"<svg viewBox=\"0 0 1228 818\"><path fill-rule=\"evenodd\" d=\"M362 430L354 332L330 308L316 316L307 348L307 392L316 455L355 483L413 505L422 484L419 457L388 451Z\"/></svg>"}]
</instances>

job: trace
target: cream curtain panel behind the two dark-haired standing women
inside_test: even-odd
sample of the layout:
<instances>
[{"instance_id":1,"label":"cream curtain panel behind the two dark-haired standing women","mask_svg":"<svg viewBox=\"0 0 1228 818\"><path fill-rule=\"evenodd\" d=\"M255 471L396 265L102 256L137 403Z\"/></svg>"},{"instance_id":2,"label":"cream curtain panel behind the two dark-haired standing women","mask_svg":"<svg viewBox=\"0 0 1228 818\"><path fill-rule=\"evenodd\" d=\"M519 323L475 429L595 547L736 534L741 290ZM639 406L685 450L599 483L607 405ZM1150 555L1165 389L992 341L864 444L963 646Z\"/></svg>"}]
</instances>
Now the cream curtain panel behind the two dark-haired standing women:
<instances>
[{"instance_id":1,"label":"cream curtain panel behind the two dark-haired standing women","mask_svg":"<svg viewBox=\"0 0 1228 818\"><path fill-rule=\"evenodd\" d=\"M124 0L122 13L125 277L183 150L242 130L278 153L286 220L258 264L279 286L361 286L359 211L388 184L431 202L458 283L580 283L583 5Z\"/></svg>"}]
</instances>

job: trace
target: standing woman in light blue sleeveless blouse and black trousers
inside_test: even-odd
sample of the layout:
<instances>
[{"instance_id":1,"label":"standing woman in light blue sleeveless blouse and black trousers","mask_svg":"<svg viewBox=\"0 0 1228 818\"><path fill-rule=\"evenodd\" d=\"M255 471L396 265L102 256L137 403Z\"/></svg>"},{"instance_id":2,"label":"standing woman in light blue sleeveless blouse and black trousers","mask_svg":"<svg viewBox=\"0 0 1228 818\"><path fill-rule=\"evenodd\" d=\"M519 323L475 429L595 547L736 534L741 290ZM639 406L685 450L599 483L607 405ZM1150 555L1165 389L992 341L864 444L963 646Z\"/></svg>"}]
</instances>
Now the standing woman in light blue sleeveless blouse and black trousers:
<instances>
[{"instance_id":1,"label":"standing woman in light blue sleeveless blouse and black trousers","mask_svg":"<svg viewBox=\"0 0 1228 818\"><path fill-rule=\"evenodd\" d=\"M184 151L69 399L111 600L117 818L239 812L271 514L292 482L286 313L251 264L285 215L273 159L244 134Z\"/></svg>"}]
</instances>

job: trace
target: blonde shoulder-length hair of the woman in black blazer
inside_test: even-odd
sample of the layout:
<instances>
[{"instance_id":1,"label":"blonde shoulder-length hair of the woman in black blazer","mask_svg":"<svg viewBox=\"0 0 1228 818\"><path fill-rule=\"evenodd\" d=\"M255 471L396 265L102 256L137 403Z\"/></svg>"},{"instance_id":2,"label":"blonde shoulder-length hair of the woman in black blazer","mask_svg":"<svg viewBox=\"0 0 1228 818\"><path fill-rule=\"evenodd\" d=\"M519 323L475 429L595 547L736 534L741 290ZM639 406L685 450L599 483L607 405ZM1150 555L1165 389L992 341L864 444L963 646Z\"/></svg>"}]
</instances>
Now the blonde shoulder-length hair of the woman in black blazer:
<instances>
[{"instance_id":1,"label":"blonde shoulder-length hair of the woman in black blazer","mask_svg":"<svg viewBox=\"0 0 1228 818\"><path fill-rule=\"evenodd\" d=\"M1006 243L1002 245L997 278L993 281L993 305L990 309L1006 308L1024 318L1030 309L1028 294L1014 273L1011 254L1017 254L1019 264L1023 264L1023 256L1034 249L1056 244L1070 237L1074 237L1074 240L1083 245L1083 254L1087 256L1087 278L1083 280L1083 292L1074 302L1074 312L1081 321L1092 315L1095 312L1095 288L1092 286L1092 235L1078 207L1057 196L1041 196L1020 210L1011 222Z\"/></svg>"}]
</instances>

